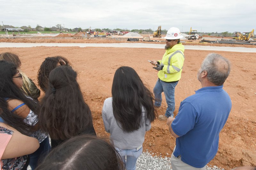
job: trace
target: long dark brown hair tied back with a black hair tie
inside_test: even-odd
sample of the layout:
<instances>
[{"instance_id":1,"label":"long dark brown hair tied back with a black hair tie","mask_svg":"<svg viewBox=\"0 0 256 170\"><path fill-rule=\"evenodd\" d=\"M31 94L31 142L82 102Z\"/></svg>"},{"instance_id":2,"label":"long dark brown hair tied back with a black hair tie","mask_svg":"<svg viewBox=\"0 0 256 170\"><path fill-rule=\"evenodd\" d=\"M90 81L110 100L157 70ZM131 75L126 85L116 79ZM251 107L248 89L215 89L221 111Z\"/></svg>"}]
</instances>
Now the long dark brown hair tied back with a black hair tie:
<instances>
[{"instance_id":1,"label":"long dark brown hair tied back with a black hair tie","mask_svg":"<svg viewBox=\"0 0 256 170\"><path fill-rule=\"evenodd\" d=\"M76 76L70 66L57 67L49 75L49 88L41 101L38 120L41 130L52 139L66 140L93 129L92 113Z\"/></svg>"}]
</instances>

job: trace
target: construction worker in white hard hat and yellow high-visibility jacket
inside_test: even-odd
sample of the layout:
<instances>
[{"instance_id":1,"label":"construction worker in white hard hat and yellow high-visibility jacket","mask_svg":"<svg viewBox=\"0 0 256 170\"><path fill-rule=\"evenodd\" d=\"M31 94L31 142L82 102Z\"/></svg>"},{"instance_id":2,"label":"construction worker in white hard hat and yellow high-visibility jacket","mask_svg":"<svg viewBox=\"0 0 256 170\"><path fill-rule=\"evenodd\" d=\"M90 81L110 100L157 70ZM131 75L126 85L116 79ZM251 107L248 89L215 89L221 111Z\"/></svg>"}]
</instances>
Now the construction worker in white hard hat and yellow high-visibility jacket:
<instances>
[{"instance_id":1,"label":"construction worker in white hard hat and yellow high-visibility jacket","mask_svg":"<svg viewBox=\"0 0 256 170\"><path fill-rule=\"evenodd\" d=\"M164 92L167 109L164 115L159 115L158 119L165 121L168 117L173 117L175 110L174 90L181 77L184 63L184 46L180 43L180 29L172 27L167 31L165 38L165 53L162 60L151 60L151 64L158 71L158 80L154 87L155 108L160 109L162 103L162 92Z\"/></svg>"}]
</instances>

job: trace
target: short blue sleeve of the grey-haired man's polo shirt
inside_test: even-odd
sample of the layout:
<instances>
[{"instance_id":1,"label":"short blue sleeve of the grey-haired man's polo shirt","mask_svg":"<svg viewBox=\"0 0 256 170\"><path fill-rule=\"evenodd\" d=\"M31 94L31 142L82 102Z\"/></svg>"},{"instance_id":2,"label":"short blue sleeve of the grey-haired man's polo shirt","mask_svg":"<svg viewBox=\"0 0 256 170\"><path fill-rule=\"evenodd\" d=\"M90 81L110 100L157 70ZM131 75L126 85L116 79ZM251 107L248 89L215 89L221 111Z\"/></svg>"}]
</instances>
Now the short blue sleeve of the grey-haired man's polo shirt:
<instances>
[{"instance_id":1,"label":"short blue sleeve of the grey-haired man's polo shirt","mask_svg":"<svg viewBox=\"0 0 256 170\"><path fill-rule=\"evenodd\" d=\"M172 130L178 136L185 135L193 129L198 119L198 113L189 102L181 102L178 115L172 122Z\"/></svg>"}]
</instances>

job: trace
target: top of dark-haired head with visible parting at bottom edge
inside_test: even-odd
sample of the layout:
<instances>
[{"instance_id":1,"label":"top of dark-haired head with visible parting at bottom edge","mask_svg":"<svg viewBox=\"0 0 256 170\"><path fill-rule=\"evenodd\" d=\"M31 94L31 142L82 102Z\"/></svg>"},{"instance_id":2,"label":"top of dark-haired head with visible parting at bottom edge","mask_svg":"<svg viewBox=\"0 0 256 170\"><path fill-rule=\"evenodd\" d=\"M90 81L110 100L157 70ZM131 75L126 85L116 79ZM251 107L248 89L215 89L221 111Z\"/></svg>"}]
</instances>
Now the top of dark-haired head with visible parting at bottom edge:
<instances>
[{"instance_id":1,"label":"top of dark-haired head with visible parting at bottom edge","mask_svg":"<svg viewBox=\"0 0 256 170\"><path fill-rule=\"evenodd\" d=\"M123 170L123 162L107 138L81 135L54 148L36 170Z\"/></svg>"}]
</instances>

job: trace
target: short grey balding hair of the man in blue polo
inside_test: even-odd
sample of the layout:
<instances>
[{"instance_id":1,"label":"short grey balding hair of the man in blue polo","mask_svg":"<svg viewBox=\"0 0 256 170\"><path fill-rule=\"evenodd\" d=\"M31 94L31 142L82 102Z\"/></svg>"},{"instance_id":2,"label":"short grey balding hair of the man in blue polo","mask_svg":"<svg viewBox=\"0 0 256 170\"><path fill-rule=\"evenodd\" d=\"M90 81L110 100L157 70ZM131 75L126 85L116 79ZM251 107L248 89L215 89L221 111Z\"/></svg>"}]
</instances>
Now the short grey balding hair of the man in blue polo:
<instances>
[{"instance_id":1,"label":"short grey balding hair of the man in blue polo","mask_svg":"<svg viewBox=\"0 0 256 170\"><path fill-rule=\"evenodd\" d=\"M227 58L212 53L203 61L200 73L207 71L207 78L215 85L223 85L230 73L230 62Z\"/></svg>"}]
</instances>

